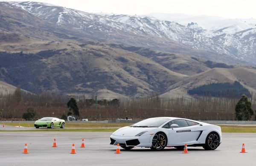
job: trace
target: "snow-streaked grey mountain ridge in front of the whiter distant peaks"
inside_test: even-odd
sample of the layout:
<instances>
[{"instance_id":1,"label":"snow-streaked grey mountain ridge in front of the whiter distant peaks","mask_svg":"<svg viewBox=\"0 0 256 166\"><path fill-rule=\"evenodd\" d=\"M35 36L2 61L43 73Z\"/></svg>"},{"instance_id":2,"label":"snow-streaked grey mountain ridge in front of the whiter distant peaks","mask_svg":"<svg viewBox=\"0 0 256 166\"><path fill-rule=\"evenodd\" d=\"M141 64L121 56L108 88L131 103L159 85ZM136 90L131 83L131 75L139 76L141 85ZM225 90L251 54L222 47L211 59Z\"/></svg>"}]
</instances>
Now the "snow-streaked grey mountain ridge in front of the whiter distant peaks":
<instances>
[{"instance_id":1,"label":"snow-streaked grey mountain ridge in front of the whiter distant peaks","mask_svg":"<svg viewBox=\"0 0 256 166\"><path fill-rule=\"evenodd\" d=\"M149 17L92 14L59 6L45 7L43 4L38 5L38 3L33 2L6 3L25 9L31 14L56 25L64 25L79 30L86 33L84 36L100 42L129 43L134 46L146 46L183 54L186 54L184 51L189 49L190 54L200 55L209 60L226 63L235 63L236 61L239 63L246 61L247 64L256 63L254 60L254 42L251 42L255 40L253 36L250 37L250 41L247 40L247 42L242 43L241 41L248 38L248 35L241 40L234 35L208 37L204 29L198 31L174 22L160 21ZM146 38L143 37L145 35ZM121 40L122 38L126 40ZM229 40L236 42L234 45L229 45ZM183 47L180 47L179 44L182 44ZM169 45L174 45L176 48L169 48ZM242 49L246 45L249 45L248 49Z\"/></svg>"}]
</instances>

